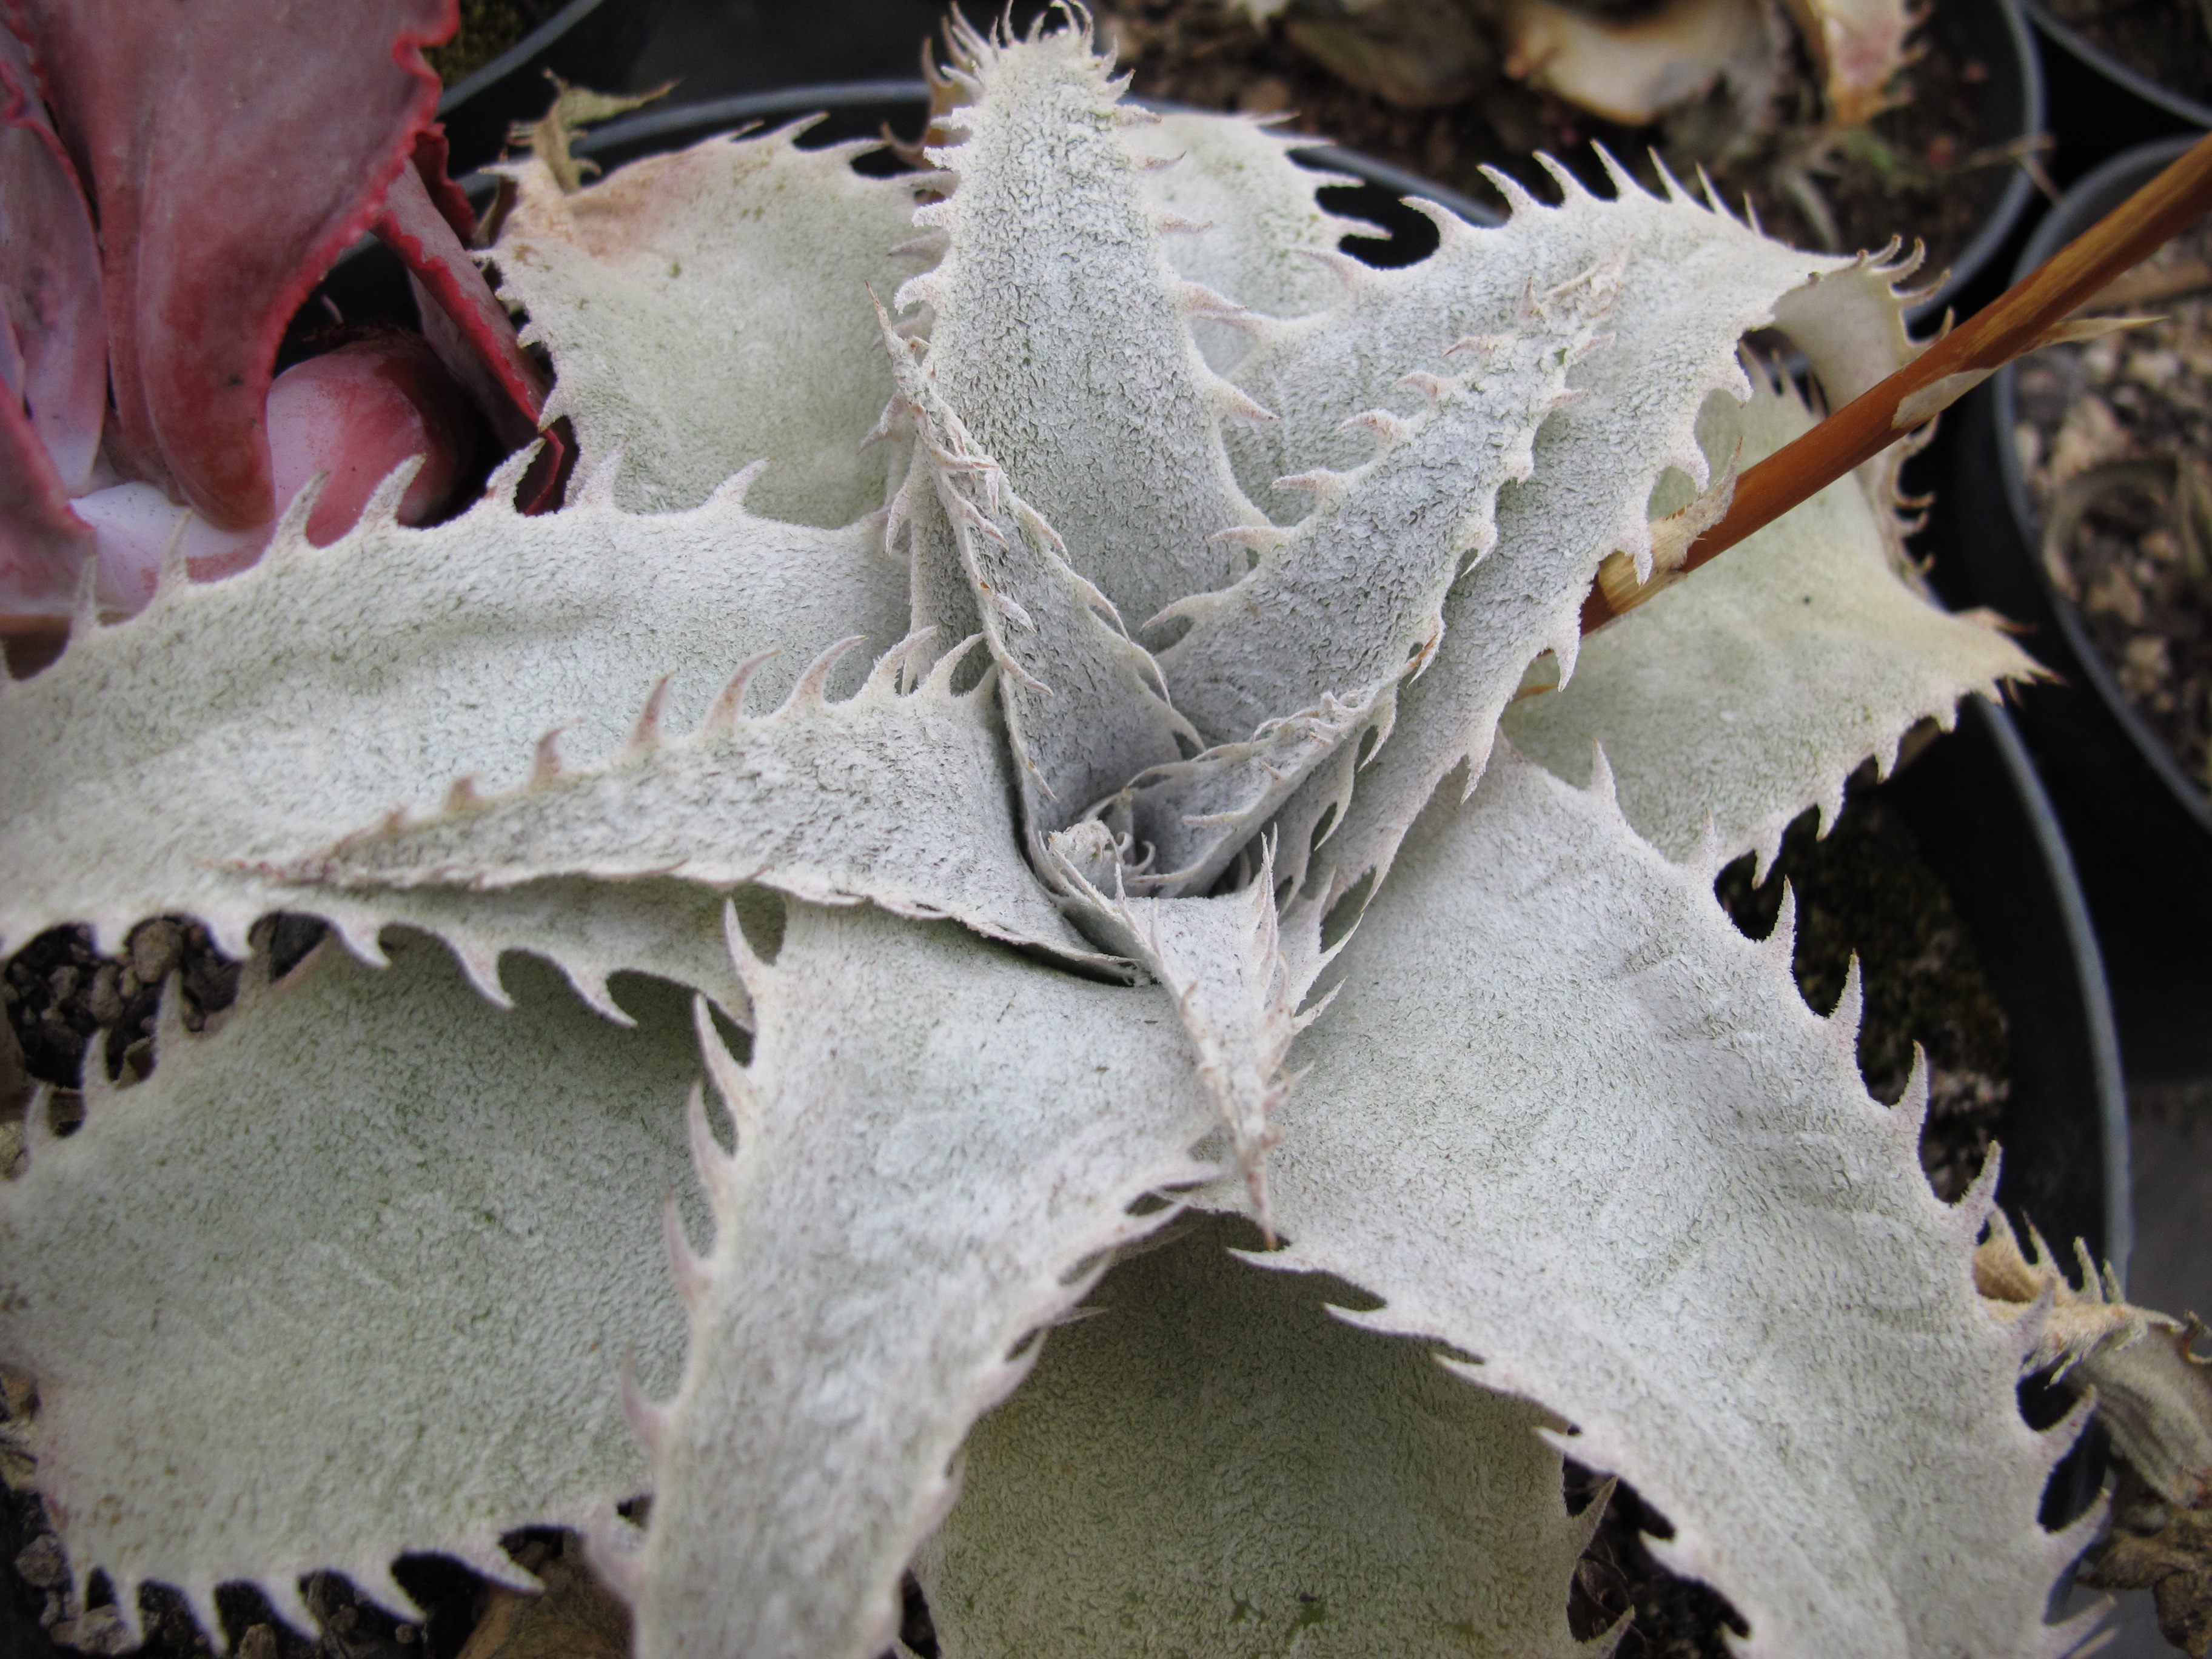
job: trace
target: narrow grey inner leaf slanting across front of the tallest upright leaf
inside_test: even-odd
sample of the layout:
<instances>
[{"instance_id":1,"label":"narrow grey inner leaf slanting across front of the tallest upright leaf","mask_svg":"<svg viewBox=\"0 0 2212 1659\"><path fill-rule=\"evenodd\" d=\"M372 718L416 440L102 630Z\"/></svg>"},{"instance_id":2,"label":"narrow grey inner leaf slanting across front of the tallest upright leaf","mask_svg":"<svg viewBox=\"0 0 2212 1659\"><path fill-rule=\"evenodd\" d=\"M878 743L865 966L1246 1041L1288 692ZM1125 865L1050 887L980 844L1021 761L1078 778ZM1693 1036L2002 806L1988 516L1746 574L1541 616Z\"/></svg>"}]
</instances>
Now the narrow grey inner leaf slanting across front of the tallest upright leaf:
<instances>
[{"instance_id":1,"label":"narrow grey inner leaf slanting across front of the tallest upright leaf","mask_svg":"<svg viewBox=\"0 0 2212 1659\"><path fill-rule=\"evenodd\" d=\"M1000 670L1022 818L1035 843L1137 772L1197 748L1199 737L1168 706L1150 653L1068 566L1060 533L1013 493L1004 469L975 445L889 319L885 343L898 376L885 418L911 442L887 542L896 546L907 533L916 608L938 608L922 573L940 568L945 553L967 580Z\"/></svg>"}]
</instances>

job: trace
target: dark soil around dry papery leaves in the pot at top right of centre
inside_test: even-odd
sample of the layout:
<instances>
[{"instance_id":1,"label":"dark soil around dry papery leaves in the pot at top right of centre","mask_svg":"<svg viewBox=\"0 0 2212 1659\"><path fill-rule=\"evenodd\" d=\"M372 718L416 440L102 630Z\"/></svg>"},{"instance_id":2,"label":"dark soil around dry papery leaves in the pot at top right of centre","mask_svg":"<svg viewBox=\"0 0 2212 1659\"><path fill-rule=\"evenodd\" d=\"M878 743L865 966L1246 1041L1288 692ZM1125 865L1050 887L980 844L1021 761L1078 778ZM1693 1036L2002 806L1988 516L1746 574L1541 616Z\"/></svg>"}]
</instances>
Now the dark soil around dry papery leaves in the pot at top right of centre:
<instances>
[{"instance_id":1,"label":"dark soil around dry papery leaves in the pot at top right of centre","mask_svg":"<svg viewBox=\"0 0 2212 1659\"><path fill-rule=\"evenodd\" d=\"M1911 102L1838 139L1814 168L1812 181L1834 217L1832 241L1781 184L1785 159L1814 144L1818 97L1803 58L1785 73L1778 95L1778 106L1794 111L1792 122L1741 155L1723 155L1714 137L1717 126L1725 126L1723 108L1699 106L1663 126L1617 126L1502 75L1458 104L1402 108L1336 80L1301 55L1279 27L1254 29L1223 0L1106 0L1099 15L1119 38L1121 60L1144 97L1199 108L1292 111L1287 131L1396 161L1500 208L1504 199L1482 177L1484 166L1555 199L1557 188L1533 161L1533 150L1559 157L1593 188L1610 192L1590 144L1604 144L1646 184L1657 184L1648 155L1657 146L1681 179L1694 181L1703 164L1730 204L1750 192L1765 230L1785 241L1851 252L1880 248L1893 234L1907 243L1918 237L1929 248L1929 270L1940 272L1982 223L1997 168L2011 166L2008 155L1993 153L2008 135L1982 131L1980 119L1980 84L1995 66L1971 55L1947 7L1936 7L1920 31L1924 55L1905 73ZM1717 93L1708 104L1723 97Z\"/></svg>"}]
</instances>

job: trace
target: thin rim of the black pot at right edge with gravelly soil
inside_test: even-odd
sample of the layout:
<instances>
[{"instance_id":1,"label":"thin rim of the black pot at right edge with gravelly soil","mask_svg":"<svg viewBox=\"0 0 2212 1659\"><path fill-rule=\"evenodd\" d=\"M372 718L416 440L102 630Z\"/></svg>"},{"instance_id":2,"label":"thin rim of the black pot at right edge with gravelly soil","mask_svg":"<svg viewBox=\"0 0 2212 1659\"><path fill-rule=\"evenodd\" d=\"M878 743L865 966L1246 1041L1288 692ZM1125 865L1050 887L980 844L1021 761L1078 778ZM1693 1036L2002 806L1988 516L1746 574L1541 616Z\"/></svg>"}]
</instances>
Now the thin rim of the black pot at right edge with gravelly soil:
<instances>
[{"instance_id":1,"label":"thin rim of the black pot at right edge with gravelly soil","mask_svg":"<svg viewBox=\"0 0 2212 1659\"><path fill-rule=\"evenodd\" d=\"M2070 243L2099 217L2104 217L2104 212L2117 206L2135 186L2150 179L2159 168L2197 142L2197 135L2183 135L2139 144L2132 150L2121 150L2095 173L2079 179L2064 195L2064 199L2044 215L2042 223L2035 226L2035 234L2028 237L2028 246L2020 250L2020 263L2013 268L2013 281L2020 281L2051 259L2059 248ZM2066 648L2079 664L2081 677L2090 684L2097 699L2128 734L2128 741L2141 754L2150 772L2166 785L2174 801L2181 803L2190 818L2197 821L2199 830L2212 836L2212 796L2208 796L2203 785L2199 785L2197 779L2181 768L2174 752L2166 748L2166 739L2150 730L2150 723L2135 712L2135 703L2128 701L2128 695L2119 688L2119 679L2112 675L2110 664L2106 664L2104 653L2090 639L2088 624L2081 622L2081 613L2075 608L2073 599L2057 591L2057 584L2044 568L2042 515L2028 498L2028 480L2020 469L2020 449L2011 440L2013 427L2020 420L2020 374L2015 365L2008 363L1997 369L1991 396L1995 398L1997 476L2004 484L2004 500L2013 511L2013 526L2020 531L2020 544L2026 553L2028 568L2033 571L2044 599L2051 604L2051 615L2057 622Z\"/></svg>"}]
</instances>

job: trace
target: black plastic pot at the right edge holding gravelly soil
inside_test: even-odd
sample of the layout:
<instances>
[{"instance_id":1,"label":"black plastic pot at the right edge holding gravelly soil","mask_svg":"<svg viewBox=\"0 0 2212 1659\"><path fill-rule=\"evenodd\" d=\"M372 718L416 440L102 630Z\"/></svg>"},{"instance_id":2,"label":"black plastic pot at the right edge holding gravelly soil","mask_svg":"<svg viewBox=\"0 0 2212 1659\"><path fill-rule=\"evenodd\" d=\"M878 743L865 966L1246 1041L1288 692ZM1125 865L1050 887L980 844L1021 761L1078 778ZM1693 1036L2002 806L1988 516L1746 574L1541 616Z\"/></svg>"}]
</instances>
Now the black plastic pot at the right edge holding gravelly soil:
<instances>
[{"instance_id":1,"label":"black plastic pot at the right edge holding gravelly soil","mask_svg":"<svg viewBox=\"0 0 2212 1659\"><path fill-rule=\"evenodd\" d=\"M2020 254L2031 272L2088 230L2185 150L2168 139L2110 159L2051 210ZM2026 626L2026 646L2055 675L2020 692L2037 757L2081 799L2157 891L2212 925L2212 801L2130 708L2075 606L2044 571L2042 518L2013 447L2017 376L2002 369L1960 411L1951 500L1938 522L1938 560L1958 597Z\"/></svg>"}]
</instances>

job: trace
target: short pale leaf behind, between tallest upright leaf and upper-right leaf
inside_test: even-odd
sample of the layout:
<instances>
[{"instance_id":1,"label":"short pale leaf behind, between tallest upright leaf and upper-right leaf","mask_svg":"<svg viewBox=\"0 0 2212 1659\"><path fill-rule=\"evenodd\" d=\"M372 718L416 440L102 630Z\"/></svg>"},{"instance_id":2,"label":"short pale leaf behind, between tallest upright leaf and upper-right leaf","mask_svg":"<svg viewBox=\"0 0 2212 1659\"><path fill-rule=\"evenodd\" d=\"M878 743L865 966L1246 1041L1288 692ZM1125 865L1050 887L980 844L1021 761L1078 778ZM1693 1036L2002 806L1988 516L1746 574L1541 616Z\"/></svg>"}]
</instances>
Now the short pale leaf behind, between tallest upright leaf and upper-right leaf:
<instances>
[{"instance_id":1,"label":"short pale leaf behind, between tallest upright leaf and upper-right leaf","mask_svg":"<svg viewBox=\"0 0 2212 1659\"><path fill-rule=\"evenodd\" d=\"M1369 226L1314 201L1314 190L1336 175L1301 168L1287 155L1312 139L1285 137L1248 115L1172 111L1137 142L1146 157L1179 157L1139 179L1146 201L1168 215L1161 248L1177 276L1267 316L1305 316L1336 299L1336 281L1316 254ZM1203 316L1194 334L1217 369L1252 345L1243 330Z\"/></svg>"}]
</instances>

